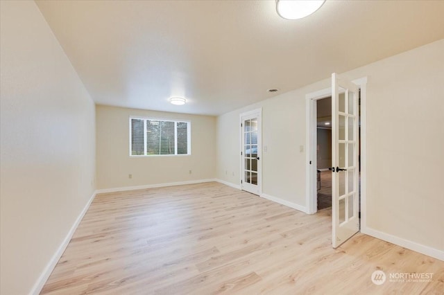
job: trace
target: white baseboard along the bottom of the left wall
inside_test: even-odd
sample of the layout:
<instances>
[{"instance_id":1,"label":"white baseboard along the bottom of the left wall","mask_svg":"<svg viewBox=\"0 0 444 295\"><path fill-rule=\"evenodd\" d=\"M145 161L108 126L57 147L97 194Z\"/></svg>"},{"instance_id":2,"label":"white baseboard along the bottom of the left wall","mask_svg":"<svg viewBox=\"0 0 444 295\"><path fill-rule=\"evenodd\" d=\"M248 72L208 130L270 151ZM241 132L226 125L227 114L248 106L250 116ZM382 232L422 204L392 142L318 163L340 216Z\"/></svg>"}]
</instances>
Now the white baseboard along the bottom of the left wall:
<instances>
[{"instance_id":1,"label":"white baseboard along the bottom of the left wall","mask_svg":"<svg viewBox=\"0 0 444 295\"><path fill-rule=\"evenodd\" d=\"M89 197L89 200L85 207L83 207L82 212L78 215L76 221L71 226L71 229L69 229L69 232L67 233L67 236L65 237L65 240L63 240L62 244L58 247L56 253L54 253L51 260L49 260L46 267L43 269L42 274L40 274L40 277L37 279L37 282L35 282L33 288L31 289L31 292L29 294L37 295L40 294L40 292L43 289L44 284L46 283L46 280L48 280L49 276L53 272L54 267L56 267L58 260L60 260L60 257L62 257L63 252L65 252L65 249L67 249L67 246L69 244L69 241L71 240L72 236L74 235L74 232L77 229L78 224L83 219L83 216L85 216L85 213L88 211L89 206L91 205L92 201L94 200L94 197L96 197L96 192L92 194L91 197Z\"/></svg>"}]
</instances>

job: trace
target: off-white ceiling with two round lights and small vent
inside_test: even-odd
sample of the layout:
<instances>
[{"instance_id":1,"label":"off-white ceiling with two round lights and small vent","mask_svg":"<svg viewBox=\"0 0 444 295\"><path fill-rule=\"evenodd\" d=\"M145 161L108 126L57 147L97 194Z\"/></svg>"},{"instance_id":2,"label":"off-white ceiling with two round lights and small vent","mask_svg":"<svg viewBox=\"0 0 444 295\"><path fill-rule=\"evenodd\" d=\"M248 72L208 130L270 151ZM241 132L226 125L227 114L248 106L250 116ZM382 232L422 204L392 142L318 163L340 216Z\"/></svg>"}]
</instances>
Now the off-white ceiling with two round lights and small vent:
<instances>
[{"instance_id":1,"label":"off-white ceiling with two round lights and small vent","mask_svg":"<svg viewBox=\"0 0 444 295\"><path fill-rule=\"evenodd\" d=\"M96 103L190 114L223 114L444 38L444 1L327 0L295 21L275 0L36 2Z\"/></svg>"}]
</instances>

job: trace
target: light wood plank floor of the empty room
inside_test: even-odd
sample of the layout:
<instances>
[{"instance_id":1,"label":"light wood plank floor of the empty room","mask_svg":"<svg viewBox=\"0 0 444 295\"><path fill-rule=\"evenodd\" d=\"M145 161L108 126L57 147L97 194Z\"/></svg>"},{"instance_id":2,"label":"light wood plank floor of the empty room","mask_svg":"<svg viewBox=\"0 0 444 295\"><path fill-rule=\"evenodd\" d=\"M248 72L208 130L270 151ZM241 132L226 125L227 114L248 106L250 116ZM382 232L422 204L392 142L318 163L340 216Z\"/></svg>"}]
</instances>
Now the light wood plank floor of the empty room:
<instances>
[{"instance_id":1,"label":"light wood plank floor of the empty room","mask_svg":"<svg viewBox=\"0 0 444 295\"><path fill-rule=\"evenodd\" d=\"M373 271L433 273L374 285ZM444 262L207 183L97 195L42 294L443 294Z\"/></svg>"}]
</instances>

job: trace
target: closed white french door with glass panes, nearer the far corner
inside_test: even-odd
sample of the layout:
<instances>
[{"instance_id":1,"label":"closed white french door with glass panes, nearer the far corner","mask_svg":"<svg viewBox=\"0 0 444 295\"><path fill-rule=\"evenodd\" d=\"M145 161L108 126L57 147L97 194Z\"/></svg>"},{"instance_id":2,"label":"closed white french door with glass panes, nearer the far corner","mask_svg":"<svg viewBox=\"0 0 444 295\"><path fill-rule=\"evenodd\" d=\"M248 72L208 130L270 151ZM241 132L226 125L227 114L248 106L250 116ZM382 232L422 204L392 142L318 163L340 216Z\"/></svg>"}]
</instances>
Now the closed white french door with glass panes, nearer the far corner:
<instances>
[{"instance_id":1,"label":"closed white french door with glass panes, nearer the far corner","mask_svg":"<svg viewBox=\"0 0 444 295\"><path fill-rule=\"evenodd\" d=\"M262 193L262 110L241 114L241 189Z\"/></svg>"}]
</instances>

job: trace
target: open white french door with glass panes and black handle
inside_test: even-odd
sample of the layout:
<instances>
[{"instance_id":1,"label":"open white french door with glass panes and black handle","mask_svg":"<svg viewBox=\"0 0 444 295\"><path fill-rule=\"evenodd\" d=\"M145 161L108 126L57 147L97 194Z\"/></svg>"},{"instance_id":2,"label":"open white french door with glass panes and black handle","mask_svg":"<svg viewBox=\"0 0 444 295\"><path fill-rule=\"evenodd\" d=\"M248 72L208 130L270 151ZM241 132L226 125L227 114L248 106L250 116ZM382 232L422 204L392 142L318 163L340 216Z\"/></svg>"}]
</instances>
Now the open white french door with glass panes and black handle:
<instances>
[{"instance_id":1,"label":"open white french door with glass panes and black handle","mask_svg":"<svg viewBox=\"0 0 444 295\"><path fill-rule=\"evenodd\" d=\"M332 74L332 244L359 231L359 89Z\"/></svg>"}]
</instances>

